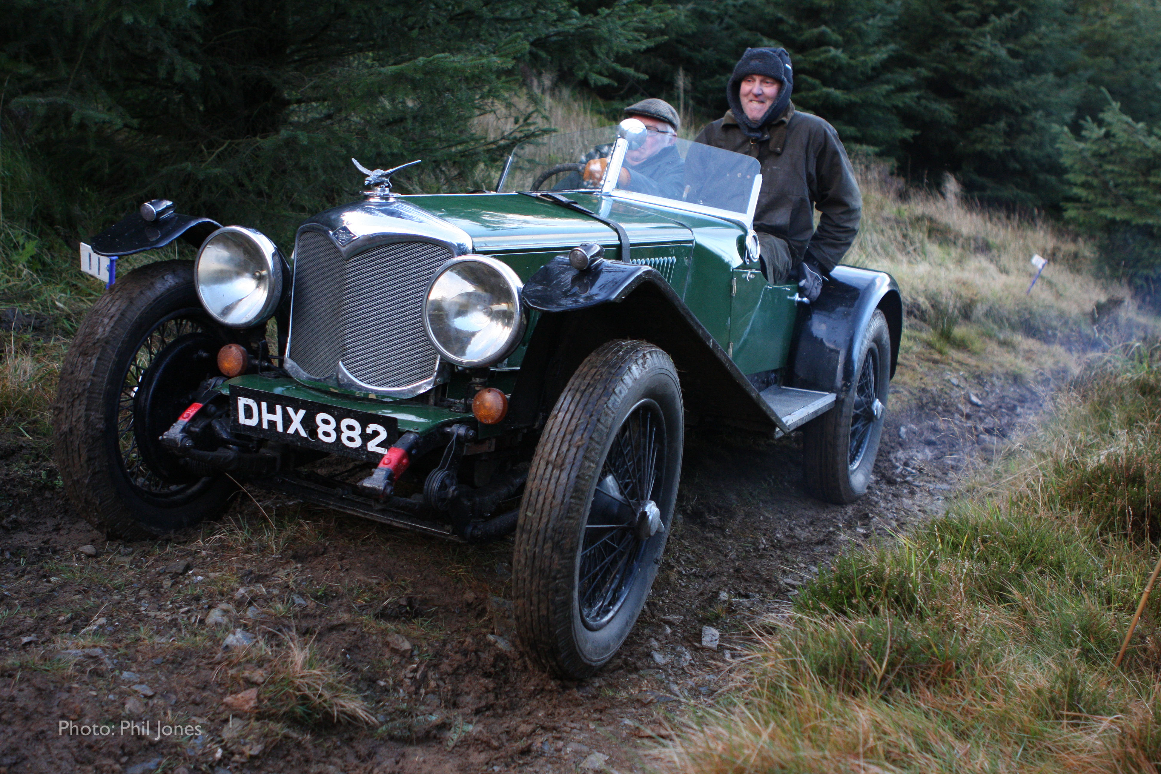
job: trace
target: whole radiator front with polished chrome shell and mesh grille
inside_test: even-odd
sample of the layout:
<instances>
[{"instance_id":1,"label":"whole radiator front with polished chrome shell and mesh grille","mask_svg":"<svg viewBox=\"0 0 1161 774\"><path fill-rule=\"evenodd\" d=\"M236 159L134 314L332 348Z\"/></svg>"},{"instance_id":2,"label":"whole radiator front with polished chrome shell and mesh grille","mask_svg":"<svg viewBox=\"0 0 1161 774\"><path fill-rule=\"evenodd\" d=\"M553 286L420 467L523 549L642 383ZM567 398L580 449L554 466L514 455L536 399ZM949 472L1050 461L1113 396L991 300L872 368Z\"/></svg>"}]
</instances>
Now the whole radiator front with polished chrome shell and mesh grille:
<instances>
[{"instance_id":1,"label":"whole radiator front with polished chrome shell and mesh grille","mask_svg":"<svg viewBox=\"0 0 1161 774\"><path fill-rule=\"evenodd\" d=\"M309 218L296 240L287 371L383 398L441 383L423 301L435 269L471 249L463 229L404 196L369 195Z\"/></svg>"}]
</instances>

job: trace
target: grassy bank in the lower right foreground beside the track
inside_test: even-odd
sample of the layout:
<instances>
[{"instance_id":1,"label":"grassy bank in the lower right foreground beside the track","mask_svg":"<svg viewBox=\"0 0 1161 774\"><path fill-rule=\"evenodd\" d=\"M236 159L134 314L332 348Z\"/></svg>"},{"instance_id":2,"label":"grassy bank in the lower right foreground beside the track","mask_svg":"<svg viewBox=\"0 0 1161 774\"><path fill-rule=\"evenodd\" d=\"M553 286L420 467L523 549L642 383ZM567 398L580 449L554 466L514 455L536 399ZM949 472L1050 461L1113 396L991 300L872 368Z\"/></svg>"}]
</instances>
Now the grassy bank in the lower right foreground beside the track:
<instances>
[{"instance_id":1,"label":"grassy bank in the lower right foreground beside the track","mask_svg":"<svg viewBox=\"0 0 1161 774\"><path fill-rule=\"evenodd\" d=\"M837 559L670 772L1155 772L1161 348L1123 347L949 514Z\"/></svg>"}]
</instances>

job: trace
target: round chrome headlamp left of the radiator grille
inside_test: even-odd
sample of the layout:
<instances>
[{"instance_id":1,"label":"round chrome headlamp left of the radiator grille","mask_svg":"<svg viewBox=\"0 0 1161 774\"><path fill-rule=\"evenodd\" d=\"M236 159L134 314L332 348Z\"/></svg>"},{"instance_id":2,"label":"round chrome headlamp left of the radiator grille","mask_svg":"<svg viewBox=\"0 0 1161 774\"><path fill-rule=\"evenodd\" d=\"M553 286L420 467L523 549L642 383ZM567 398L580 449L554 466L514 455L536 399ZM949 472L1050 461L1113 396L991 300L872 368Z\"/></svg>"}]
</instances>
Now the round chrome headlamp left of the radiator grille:
<instances>
[{"instance_id":1,"label":"round chrome headlamp left of the radiator grille","mask_svg":"<svg viewBox=\"0 0 1161 774\"><path fill-rule=\"evenodd\" d=\"M282 259L265 234L244 226L218 229L194 262L202 306L218 323L248 328L267 320L282 297Z\"/></svg>"}]
</instances>

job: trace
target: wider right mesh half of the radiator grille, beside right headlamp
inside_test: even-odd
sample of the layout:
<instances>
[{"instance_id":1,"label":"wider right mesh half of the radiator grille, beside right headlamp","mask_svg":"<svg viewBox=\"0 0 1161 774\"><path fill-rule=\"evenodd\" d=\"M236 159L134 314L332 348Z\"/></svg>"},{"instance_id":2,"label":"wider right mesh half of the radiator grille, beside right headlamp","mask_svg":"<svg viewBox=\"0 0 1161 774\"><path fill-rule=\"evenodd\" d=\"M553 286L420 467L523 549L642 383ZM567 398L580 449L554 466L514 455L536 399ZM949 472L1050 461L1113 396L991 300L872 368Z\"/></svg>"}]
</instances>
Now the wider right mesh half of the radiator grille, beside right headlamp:
<instances>
[{"instance_id":1,"label":"wider right mesh half of the radiator grille, beside right headlamp","mask_svg":"<svg viewBox=\"0 0 1161 774\"><path fill-rule=\"evenodd\" d=\"M401 388L435 370L424 297L452 251L425 241L380 245L347 262L342 364L365 384Z\"/></svg>"}]
</instances>

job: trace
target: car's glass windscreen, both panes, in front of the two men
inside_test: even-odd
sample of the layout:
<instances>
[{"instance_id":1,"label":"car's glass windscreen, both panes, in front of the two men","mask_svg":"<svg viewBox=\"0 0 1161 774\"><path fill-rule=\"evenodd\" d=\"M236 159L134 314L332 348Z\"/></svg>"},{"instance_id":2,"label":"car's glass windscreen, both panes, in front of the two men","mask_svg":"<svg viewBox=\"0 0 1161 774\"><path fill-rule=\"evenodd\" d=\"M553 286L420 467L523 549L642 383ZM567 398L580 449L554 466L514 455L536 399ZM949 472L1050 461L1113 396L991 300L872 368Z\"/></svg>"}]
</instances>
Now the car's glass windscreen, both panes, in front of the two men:
<instances>
[{"instance_id":1,"label":"car's glass windscreen, both panes, in front of the two men","mask_svg":"<svg viewBox=\"0 0 1161 774\"><path fill-rule=\"evenodd\" d=\"M745 215L760 174L758 160L649 130L628 137L614 193L646 194ZM521 143L500 190L597 189L616 142L616 126Z\"/></svg>"}]
</instances>

